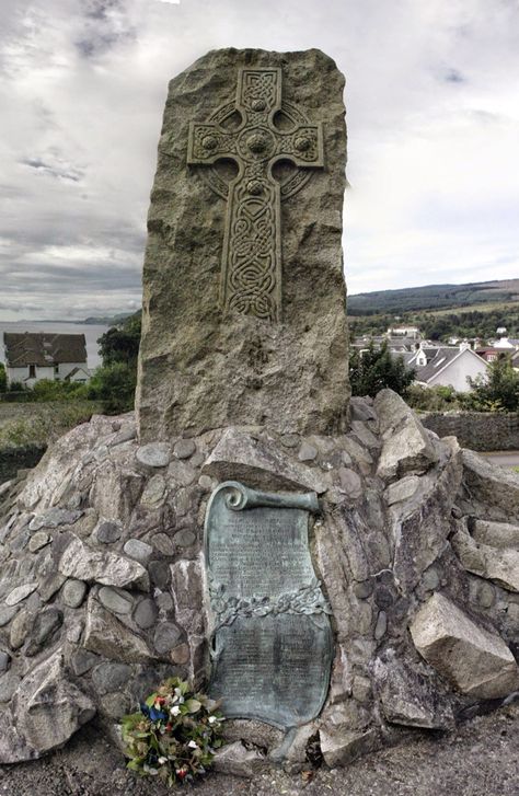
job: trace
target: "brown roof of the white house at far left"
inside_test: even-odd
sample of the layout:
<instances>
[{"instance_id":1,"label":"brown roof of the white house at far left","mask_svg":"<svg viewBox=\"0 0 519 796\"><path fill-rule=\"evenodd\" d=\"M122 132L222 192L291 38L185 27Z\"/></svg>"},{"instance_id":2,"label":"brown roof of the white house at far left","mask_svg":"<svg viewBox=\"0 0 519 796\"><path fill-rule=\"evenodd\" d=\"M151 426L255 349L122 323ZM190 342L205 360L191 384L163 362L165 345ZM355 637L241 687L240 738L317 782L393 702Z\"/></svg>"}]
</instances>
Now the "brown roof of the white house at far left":
<instances>
[{"instance_id":1,"label":"brown roof of the white house at far left","mask_svg":"<svg viewBox=\"0 0 519 796\"><path fill-rule=\"evenodd\" d=\"M5 362L11 368L28 365L53 367L64 362L86 364L84 334L4 332Z\"/></svg>"}]
</instances>

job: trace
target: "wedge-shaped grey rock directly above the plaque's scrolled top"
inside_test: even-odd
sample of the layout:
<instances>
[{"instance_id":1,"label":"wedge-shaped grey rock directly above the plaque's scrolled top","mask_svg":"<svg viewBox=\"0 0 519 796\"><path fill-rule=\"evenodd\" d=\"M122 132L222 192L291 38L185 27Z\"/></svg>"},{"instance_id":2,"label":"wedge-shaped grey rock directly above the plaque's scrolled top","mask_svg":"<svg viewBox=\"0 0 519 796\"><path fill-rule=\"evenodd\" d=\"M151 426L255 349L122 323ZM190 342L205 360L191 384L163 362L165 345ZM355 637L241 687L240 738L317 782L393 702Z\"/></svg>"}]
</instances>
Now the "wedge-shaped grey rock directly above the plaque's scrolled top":
<instances>
[{"instance_id":1,"label":"wedge-shaped grey rock directly above the plaque's scrolled top","mask_svg":"<svg viewBox=\"0 0 519 796\"><path fill-rule=\"evenodd\" d=\"M219 481L243 481L261 489L326 489L318 470L289 459L274 441L260 440L237 428L223 432L203 472Z\"/></svg>"}]
</instances>

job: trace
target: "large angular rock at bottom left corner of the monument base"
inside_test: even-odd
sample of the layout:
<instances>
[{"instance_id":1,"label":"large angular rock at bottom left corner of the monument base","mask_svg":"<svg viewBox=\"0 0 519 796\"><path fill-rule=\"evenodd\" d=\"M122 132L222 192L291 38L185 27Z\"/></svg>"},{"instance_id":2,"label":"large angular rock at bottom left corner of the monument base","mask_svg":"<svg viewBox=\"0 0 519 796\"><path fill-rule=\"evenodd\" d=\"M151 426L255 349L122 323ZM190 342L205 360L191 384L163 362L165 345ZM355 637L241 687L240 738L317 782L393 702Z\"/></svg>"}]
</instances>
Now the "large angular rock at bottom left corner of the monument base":
<instances>
[{"instance_id":1,"label":"large angular rock at bottom left corner of the monument base","mask_svg":"<svg viewBox=\"0 0 519 796\"><path fill-rule=\"evenodd\" d=\"M58 749L95 714L95 706L67 680L61 650L36 666L0 716L0 763L18 763Z\"/></svg>"}]
</instances>

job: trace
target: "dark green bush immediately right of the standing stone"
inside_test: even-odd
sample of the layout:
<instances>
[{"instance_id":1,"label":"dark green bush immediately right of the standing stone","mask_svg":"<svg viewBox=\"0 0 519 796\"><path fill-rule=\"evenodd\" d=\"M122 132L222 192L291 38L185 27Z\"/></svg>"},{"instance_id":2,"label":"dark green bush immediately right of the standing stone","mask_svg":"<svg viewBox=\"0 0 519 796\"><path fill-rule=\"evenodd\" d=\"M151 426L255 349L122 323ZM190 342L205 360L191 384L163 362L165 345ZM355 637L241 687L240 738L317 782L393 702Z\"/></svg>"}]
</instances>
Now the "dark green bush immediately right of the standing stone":
<instances>
[{"instance_id":1,"label":"dark green bush immediately right of the standing stone","mask_svg":"<svg viewBox=\"0 0 519 796\"><path fill-rule=\"evenodd\" d=\"M383 388L405 395L414 378L415 371L406 367L403 357L392 357L387 343L380 348L370 343L362 353L357 348L350 350L349 380L354 395L374 397Z\"/></svg>"}]
</instances>

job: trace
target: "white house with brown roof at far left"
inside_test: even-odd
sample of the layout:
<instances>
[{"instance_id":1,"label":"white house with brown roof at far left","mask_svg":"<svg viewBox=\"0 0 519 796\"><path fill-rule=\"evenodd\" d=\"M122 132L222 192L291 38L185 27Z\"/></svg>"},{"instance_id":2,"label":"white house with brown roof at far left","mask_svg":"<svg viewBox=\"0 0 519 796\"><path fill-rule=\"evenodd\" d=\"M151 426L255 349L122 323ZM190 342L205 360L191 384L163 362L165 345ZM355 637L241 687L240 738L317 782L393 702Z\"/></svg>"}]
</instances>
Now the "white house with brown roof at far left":
<instances>
[{"instance_id":1,"label":"white house with brown roof at far left","mask_svg":"<svg viewBox=\"0 0 519 796\"><path fill-rule=\"evenodd\" d=\"M8 382L32 388L42 379L86 382L84 334L4 332L5 371Z\"/></svg>"}]
</instances>

